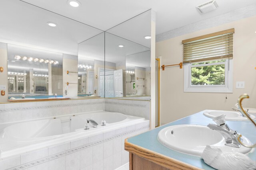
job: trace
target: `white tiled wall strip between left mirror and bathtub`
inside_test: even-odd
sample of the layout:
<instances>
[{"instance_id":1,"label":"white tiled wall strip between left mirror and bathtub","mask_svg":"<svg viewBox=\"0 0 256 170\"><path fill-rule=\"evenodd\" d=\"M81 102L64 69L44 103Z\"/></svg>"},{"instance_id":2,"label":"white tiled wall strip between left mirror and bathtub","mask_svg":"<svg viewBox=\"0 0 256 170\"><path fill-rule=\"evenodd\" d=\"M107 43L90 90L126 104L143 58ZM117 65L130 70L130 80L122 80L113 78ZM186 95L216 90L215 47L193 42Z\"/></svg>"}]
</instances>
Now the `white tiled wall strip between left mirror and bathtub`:
<instances>
[{"instance_id":1,"label":"white tiled wall strip between left mirror and bathtub","mask_svg":"<svg viewBox=\"0 0 256 170\"><path fill-rule=\"evenodd\" d=\"M0 123L105 110L105 99L0 104ZM0 127L1 129L1 127Z\"/></svg>"}]
</instances>

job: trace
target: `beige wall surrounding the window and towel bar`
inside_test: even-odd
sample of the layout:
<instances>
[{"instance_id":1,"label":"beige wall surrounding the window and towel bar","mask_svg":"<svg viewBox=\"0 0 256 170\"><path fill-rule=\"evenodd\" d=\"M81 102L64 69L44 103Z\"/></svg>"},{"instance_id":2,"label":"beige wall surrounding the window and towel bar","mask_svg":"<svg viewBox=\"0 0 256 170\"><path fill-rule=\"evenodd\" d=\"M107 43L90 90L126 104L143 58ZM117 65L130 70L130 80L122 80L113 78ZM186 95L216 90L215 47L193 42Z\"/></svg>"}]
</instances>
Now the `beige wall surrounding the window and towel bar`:
<instances>
[{"instance_id":1,"label":"beige wall surrounding the window and towel bar","mask_svg":"<svg viewBox=\"0 0 256 170\"><path fill-rule=\"evenodd\" d=\"M161 70L161 124L204 109L230 110L243 93L250 96L250 99L244 100L243 106L256 108L256 16L160 41L156 43L156 57L162 56L161 63L165 65L180 63L182 40L230 28L235 28L233 93L184 92L184 68L174 66ZM236 81L244 81L245 88L236 89Z\"/></svg>"}]
</instances>

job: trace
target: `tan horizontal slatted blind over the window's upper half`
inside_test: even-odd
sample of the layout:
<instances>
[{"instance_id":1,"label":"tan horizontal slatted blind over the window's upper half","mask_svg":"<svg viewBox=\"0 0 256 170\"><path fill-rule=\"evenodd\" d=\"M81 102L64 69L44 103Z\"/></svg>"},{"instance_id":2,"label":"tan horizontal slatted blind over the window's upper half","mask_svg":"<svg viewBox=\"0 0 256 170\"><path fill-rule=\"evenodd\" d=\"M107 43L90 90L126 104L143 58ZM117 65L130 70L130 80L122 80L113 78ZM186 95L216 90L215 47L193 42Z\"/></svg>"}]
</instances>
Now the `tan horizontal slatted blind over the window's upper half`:
<instances>
[{"instance_id":1,"label":"tan horizontal slatted blind over the window's upper half","mask_svg":"<svg viewBox=\"0 0 256 170\"><path fill-rule=\"evenodd\" d=\"M233 33L234 29L228 29L183 40L183 63L232 59Z\"/></svg>"}]
</instances>

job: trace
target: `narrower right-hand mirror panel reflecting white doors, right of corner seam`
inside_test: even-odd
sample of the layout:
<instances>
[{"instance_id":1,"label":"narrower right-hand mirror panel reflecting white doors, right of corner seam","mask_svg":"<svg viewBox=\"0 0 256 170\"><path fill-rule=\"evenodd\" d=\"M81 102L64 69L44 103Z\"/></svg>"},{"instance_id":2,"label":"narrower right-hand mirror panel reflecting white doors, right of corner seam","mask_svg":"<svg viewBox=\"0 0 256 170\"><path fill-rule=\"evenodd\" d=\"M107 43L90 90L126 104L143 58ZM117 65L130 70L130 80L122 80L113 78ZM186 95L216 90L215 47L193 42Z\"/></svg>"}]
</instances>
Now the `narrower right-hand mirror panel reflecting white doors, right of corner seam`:
<instances>
[{"instance_id":1,"label":"narrower right-hand mirror panel reflecting white doors, right of corner seam","mask_svg":"<svg viewBox=\"0 0 256 170\"><path fill-rule=\"evenodd\" d=\"M106 31L106 98L150 96L150 24L151 10Z\"/></svg>"}]
</instances>

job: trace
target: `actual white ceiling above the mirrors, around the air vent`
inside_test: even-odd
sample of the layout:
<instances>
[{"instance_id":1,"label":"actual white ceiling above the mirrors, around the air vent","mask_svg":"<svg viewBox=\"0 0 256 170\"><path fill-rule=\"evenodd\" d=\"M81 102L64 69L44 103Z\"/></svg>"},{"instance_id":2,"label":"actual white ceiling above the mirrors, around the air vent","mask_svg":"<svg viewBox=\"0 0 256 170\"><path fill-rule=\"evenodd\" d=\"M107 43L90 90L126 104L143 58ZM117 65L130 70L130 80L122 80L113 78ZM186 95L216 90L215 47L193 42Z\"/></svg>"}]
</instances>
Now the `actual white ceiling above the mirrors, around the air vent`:
<instances>
[{"instance_id":1,"label":"actual white ceiling above the mirrors, around the air vent","mask_svg":"<svg viewBox=\"0 0 256 170\"><path fill-rule=\"evenodd\" d=\"M66 0L24 0L106 31L146 10L156 11L156 34L256 4L256 0L216 0L219 8L200 14L196 6L210 0L79 0L81 6L70 8Z\"/></svg>"}]
</instances>

